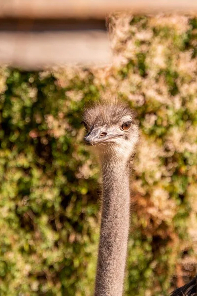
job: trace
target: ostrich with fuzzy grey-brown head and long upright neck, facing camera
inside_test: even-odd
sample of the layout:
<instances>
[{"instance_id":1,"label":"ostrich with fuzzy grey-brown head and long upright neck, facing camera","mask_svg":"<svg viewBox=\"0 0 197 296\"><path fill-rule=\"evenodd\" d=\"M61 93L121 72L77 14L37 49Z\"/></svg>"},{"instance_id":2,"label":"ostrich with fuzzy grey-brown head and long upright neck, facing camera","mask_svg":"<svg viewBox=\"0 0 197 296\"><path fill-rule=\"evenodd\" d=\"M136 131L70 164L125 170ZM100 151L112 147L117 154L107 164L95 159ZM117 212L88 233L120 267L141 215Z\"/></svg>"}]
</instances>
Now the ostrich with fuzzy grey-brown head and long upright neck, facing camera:
<instances>
[{"instance_id":1,"label":"ostrich with fuzzy grey-brown head and long upright neck, facing camera","mask_svg":"<svg viewBox=\"0 0 197 296\"><path fill-rule=\"evenodd\" d=\"M122 296L130 224L130 161L139 139L138 125L134 111L113 98L101 99L85 109L82 122L87 131L84 142L95 146L102 173L102 214L94 295ZM190 291L189 288L187 286L183 291ZM173 293L172 296L194 295L184 294L180 289Z\"/></svg>"}]
</instances>

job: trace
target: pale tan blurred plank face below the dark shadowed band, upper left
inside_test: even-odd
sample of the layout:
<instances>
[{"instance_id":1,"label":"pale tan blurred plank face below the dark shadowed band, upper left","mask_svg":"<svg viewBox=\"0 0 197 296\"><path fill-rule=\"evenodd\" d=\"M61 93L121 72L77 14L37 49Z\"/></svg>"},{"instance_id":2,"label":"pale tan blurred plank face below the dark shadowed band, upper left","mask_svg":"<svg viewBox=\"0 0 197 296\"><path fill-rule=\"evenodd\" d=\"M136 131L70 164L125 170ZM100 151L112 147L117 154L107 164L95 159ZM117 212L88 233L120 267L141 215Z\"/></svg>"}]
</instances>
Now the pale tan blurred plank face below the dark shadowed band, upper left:
<instances>
[{"instance_id":1,"label":"pale tan blurred plank face below the dark shadowed band, upper left","mask_svg":"<svg viewBox=\"0 0 197 296\"><path fill-rule=\"evenodd\" d=\"M54 65L103 66L111 62L104 31L0 32L0 64L39 70Z\"/></svg>"}]
</instances>

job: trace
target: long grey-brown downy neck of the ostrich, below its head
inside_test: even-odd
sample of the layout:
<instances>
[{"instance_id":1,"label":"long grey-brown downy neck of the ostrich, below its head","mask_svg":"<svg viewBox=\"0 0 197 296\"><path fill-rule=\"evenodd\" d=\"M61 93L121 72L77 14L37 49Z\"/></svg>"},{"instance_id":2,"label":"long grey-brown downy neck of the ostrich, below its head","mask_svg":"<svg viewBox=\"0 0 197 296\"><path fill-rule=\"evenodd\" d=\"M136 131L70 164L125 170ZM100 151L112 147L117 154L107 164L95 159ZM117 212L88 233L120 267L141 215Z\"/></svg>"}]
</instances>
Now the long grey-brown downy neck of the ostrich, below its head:
<instances>
[{"instance_id":1,"label":"long grey-brown downy neck of the ostrich, below its head","mask_svg":"<svg viewBox=\"0 0 197 296\"><path fill-rule=\"evenodd\" d=\"M122 296L130 218L129 169L102 163L103 200L95 296Z\"/></svg>"}]
</instances>

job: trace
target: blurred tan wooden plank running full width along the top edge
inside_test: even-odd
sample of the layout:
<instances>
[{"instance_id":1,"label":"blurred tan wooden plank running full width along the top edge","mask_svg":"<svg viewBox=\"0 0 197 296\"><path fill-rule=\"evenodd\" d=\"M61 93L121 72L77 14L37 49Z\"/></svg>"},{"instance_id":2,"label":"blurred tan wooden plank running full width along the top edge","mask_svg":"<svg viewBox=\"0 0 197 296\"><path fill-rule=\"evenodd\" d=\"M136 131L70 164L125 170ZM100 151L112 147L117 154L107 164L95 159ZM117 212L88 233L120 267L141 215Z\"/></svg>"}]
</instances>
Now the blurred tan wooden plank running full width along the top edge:
<instances>
[{"instance_id":1,"label":"blurred tan wooden plank running full width along the top edge","mask_svg":"<svg viewBox=\"0 0 197 296\"><path fill-rule=\"evenodd\" d=\"M0 0L0 17L103 18L113 11L133 14L197 13L196 0Z\"/></svg>"}]
</instances>

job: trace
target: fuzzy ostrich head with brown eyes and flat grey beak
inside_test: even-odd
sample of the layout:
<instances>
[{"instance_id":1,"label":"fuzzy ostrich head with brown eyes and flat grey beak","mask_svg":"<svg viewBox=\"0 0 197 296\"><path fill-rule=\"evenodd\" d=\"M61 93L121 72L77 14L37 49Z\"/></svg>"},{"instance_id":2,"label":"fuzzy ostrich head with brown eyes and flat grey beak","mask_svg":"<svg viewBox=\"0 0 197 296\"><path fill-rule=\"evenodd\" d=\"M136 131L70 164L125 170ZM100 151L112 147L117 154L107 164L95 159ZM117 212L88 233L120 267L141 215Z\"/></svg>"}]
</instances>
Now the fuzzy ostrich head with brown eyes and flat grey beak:
<instances>
[{"instance_id":1,"label":"fuzzy ostrich head with brown eyes and flat grey beak","mask_svg":"<svg viewBox=\"0 0 197 296\"><path fill-rule=\"evenodd\" d=\"M134 111L117 99L101 99L83 114L84 142L95 146L99 156L127 159L138 141ZM111 158L111 157L110 157Z\"/></svg>"}]
</instances>

